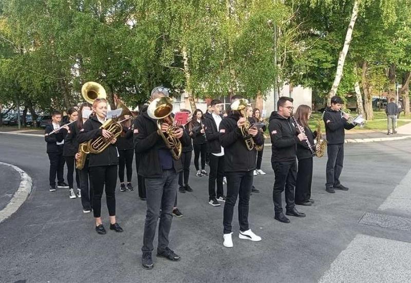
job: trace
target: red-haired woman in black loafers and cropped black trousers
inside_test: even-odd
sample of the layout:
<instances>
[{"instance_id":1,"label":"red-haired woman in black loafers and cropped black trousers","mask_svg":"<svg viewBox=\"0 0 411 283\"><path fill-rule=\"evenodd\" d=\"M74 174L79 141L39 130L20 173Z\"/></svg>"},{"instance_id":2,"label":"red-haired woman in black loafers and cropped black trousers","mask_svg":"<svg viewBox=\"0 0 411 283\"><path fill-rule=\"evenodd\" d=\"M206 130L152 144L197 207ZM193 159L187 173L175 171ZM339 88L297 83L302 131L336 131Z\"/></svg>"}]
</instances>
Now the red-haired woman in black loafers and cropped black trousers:
<instances>
[{"instance_id":1,"label":"red-haired woman in black loafers and cropped black trousers","mask_svg":"<svg viewBox=\"0 0 411 283\"><path fill-rule=\"evenodd\" d=\"M98 154L90 153L89 155L89 174L93 188L92 208L96 219L96 232L106 234L106 230L101 220L101 197L104 186L106 192L106 202L108 215L110 219L110 229L116 232L123 232L123 229L116 222L116 183L117 183L117 165L119 163L116 138L111 137L111 133L105 129L100 129L106 121L107 101L104 98L94 100L92 115L83 125L78 135L79 143L90 139L103 136L111 138L109 145L103 152Z\"/></svg>"}]
</instances>

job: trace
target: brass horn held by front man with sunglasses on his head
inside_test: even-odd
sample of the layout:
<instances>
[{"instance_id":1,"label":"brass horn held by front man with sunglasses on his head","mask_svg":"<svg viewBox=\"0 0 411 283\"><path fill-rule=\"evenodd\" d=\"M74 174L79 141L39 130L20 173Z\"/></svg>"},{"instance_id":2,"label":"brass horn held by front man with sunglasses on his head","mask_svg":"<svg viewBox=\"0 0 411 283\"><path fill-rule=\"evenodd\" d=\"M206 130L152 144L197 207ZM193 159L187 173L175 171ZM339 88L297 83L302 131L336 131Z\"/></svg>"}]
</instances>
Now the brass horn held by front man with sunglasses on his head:
<instances>
[{"instance_id":1,"label":"brass horn held by front man with sunglasses on his head","mask_svg":"<svg viewBox=\"0 0 411 283\"><path fill-rule=\"evenodd\" d=\"M170 97L159 97L150 102L147 108L147 114L152 119L157 120L158 134L164 140L164 144L170 150L173 158L179 160L182 152L181 141L176 138L175 131L178 129L174 125L174 119L171 117L173 112L173 99ZM169 129L163 133L161 124L165 122L170 125Z\"/></svg>"}]
</instances>

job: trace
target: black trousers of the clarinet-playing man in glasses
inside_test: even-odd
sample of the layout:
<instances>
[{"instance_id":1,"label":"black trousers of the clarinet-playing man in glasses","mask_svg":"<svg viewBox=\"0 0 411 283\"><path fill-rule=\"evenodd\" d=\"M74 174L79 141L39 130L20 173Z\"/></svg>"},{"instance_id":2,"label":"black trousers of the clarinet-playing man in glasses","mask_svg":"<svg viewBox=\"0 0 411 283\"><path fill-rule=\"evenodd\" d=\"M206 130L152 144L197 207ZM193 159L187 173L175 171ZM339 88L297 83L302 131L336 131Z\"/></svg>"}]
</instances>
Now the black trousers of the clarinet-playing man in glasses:
<instances>
[{"instance_id":1,"label":"black trousers of the clarinet-playing man in glasses","mask_svg":"<svg viewBox=\"0 0 411 283\"><path fill-rule=\"evenodd\" d=\"M275 181L273 187L274 213L282 213L282 193L286 190L286 209L295 207L294 187L297 178L297 161L272 162L274 169Z\"/></svg>"}]
</instances>

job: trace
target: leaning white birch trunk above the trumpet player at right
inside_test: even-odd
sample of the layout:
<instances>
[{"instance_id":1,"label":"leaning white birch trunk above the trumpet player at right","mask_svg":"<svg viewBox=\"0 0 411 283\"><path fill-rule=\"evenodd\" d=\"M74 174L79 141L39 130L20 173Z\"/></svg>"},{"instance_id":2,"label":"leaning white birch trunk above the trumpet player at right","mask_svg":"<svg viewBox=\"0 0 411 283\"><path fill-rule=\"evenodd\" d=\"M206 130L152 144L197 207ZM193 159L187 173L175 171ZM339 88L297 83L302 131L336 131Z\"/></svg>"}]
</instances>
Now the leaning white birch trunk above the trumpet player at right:
<instances>
[{"instance_id":1,"label":"leaning white birch trunk above the trumpet player at right","mask_svg":"<svg viewBox=\"0 0 411 283\"><path fill-rule=\"evenodd\" d=\"M351 13L351 20L348 25L347 34L345 36L343 50L340 52L340 57L338 59L337 64L337 73L335 74L334 82L332 83L331 90L328 93L328 105L330 105L331 97L337 94L338 86L340 84L341 78L343 76L343 68L345 57L348 53L348 48L350 47L351 38L352 38L352 30L354 29L354 24L356 24L357 16L358 16L358 1L354 1L354 7L352 7Z\"/></svg>"}]
</instances>

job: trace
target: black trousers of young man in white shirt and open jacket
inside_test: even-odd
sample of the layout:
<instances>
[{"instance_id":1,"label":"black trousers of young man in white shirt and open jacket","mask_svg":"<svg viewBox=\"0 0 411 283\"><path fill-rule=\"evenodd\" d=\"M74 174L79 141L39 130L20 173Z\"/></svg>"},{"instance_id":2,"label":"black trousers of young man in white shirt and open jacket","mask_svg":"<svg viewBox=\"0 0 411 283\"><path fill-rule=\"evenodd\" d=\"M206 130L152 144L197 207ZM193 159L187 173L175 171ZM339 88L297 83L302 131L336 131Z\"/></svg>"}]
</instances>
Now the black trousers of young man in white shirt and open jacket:
<instances>
[{"instance_id":1,"label":"black trousers of young man in white shirt and open jacket","mask_svg":"<svg viewBox=\"0 0 411 283\"><path fill-rule=\"evenodd\" d=\"M215 156L210 153L209 200L216 198L215 183L217 181L217 198L224 195L222 178L224 176L224 155Z\"/></svg>"}]
</instances>

